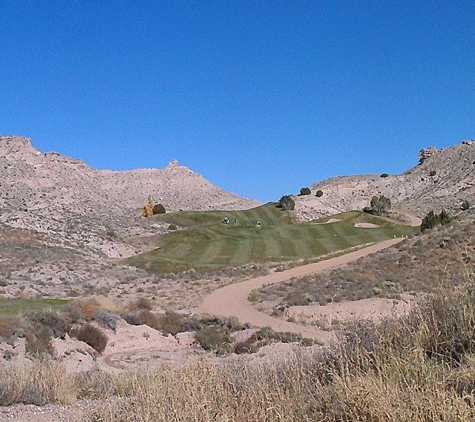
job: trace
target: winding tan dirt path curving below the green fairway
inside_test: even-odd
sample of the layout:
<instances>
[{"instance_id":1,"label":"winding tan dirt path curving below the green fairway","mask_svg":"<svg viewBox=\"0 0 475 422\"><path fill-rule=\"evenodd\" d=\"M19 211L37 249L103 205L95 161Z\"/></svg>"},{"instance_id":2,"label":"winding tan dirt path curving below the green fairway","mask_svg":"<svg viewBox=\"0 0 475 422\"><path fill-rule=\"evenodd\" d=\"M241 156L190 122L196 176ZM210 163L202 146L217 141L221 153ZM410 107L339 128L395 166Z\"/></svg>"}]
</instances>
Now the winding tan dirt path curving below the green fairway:
<instances>
[{"instance_id":1,"label":"winding tan dirt path curving below the green fairway","mask_svg":"<svg viewBox=\"0 0 475 422\"><path fill-rule=\"evenodd\" d=\"M201 311L218 316L236 316L243 322L249 322L258 327L271 327L275 331L291 331L304 337L313 338L328 344L334 335L317 327L303 326L283 321L259 312L248 301L251 290L259 289L263 284L275 284L292 277L302 277L308 274L321 273L325 270L340 267L359 258L371 255L382 249L389 248L403 239L396 238L366 246L342 256L327 259L313 264L302 265L282 272L274 272L262 277L253 278L241 283L231 284L214 291L206 296L201 305Z\"/></svg>"}]
</instances>

